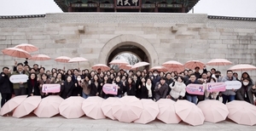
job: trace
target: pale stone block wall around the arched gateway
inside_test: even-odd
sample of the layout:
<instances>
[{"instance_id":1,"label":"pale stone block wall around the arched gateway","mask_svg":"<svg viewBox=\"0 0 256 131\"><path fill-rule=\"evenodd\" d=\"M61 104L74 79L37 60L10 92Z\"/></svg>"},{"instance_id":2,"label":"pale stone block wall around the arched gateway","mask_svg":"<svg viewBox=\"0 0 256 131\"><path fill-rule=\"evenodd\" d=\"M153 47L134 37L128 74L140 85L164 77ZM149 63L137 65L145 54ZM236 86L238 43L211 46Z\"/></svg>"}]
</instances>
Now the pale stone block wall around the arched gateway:
<instances>
[{"instance_id":1,"label":"pale stone block wall around the arched gateway","mask_svg":"<svg viewBox=\"0 0 256 131\"><path fill-rule=\"evenodd\" d=\"M79 31L83 26L84 32ZM214 58L230 60L234 65L256 65L256 21L215 20L208 19L207 14L140 13L67 13L0 19L1 50L31 43L40 48L32 54L48 54L53 59L61 55L82 56L89 60L81 63L83 68L106 64L109 51L127 41L142 48L153 66L167 60L185 63ZM15 58L0 54L0 60L3 67L13 65ZM47 69L64 65L55 60L29 60L29 63L38 63ZM65 65L67 68L77 66ZM218 69L224 71L228 67Z\"/></svg>"}]
</instances>

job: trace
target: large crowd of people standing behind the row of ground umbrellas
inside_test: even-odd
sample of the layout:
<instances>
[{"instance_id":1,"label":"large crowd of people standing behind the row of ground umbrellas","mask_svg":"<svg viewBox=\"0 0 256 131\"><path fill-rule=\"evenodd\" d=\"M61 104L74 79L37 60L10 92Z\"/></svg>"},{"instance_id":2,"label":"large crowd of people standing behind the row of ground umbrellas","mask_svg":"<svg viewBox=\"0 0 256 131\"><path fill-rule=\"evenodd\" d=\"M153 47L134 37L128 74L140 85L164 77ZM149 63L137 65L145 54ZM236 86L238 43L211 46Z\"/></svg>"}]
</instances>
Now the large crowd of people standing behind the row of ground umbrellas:
<instances>
[{"instance_id":1,"label":"large crowd of people standing behind the row of ground umbrellas","mask_svg":"<svg viewBox=\"0 0 256 131\"><path fill-rule=\"evenodd\" d=\"M88 69L79 71L79 69L70 69L67 71L61 69L51 69L45 71L44 67L38 67L34 64L32 67L15 64L10 72L9 67L3 67L0 76L0 92L2 94L1 105L11 99L12 95L40 95L42 98L49 95L60 95L63 99L70 96L81 96L87 99L90 96L100 96L104 99L108 97L119 97L124 95L134 95L138 99L172 99L189 100L195 104L202 100L218 100L220 97L225 104L232 100L245 100L254 105L253 97L256 97L256 89L252 78L247 72L243 72L241 78L238 78L236 72L226 71L222 75L220 71L214 68L207 71L206 66L200 73L200 68L195 67L195 71L184 70L181 72L160 72L154 71L89 71ZM26 74L28 80L26 83L11 83L11 75ZM205 91L204 95L189 94L186 92L186 86L189 83L205 84L219 83L226 81L240 81L240 89L226 89L224 92ZM47 94L42 92L43 84L60 84L60 93ZM102 87L106 83L113 83L118 86L118 94L105 94Z\"/></svg>"}]
</instances>

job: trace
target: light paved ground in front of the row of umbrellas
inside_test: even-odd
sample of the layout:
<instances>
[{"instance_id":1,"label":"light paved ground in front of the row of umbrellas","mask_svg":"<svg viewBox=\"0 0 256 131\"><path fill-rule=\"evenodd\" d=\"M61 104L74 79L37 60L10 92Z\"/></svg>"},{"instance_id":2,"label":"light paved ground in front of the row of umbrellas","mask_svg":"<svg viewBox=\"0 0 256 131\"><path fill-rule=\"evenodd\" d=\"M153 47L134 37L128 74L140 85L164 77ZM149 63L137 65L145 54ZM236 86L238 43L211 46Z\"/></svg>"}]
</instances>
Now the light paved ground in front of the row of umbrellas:
<instances>
[{"instance_id":1,"label":"light paved ground in front of the row of umbrellas","mask_svg":"<svg viewBox=\"0 0 256 131\"><path fill-rule=\"evenodd\" d=\"M3 131L255 131L256 126L244 126L231 122L229 119L224 122L205 122L201 126L189 126L185 122L179 124L166 124L155 120L148 124L125 123L110 119L93 120L89 117L79 119L66 119L60 115L51 118L38 118L33 114L27 117L0 117L0 130Z\"/></svg>"}]
</instances>

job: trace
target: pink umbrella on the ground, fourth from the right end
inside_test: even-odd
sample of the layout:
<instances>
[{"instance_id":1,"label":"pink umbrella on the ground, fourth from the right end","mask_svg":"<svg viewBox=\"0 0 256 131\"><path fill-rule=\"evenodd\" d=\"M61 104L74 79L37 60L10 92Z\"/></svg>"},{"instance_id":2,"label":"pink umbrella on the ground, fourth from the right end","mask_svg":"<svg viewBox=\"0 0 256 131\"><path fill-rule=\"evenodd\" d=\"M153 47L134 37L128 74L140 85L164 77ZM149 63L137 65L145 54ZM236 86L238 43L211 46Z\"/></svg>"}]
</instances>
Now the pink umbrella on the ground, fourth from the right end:
<instances>
[{"instance_id":1,"label":"pink umbrella on the ground, fourth from the right end","mask_svg":"<svg viewBox=\"0 0 256 131\"><path fill-rule=\"evenodd\" d=\"M166 123L178 123L181 118L177 116L175 112L174 104L175 102L170 99L160 99L156 102L159 106L158 119Z\"/></svg>"}]
</instances>

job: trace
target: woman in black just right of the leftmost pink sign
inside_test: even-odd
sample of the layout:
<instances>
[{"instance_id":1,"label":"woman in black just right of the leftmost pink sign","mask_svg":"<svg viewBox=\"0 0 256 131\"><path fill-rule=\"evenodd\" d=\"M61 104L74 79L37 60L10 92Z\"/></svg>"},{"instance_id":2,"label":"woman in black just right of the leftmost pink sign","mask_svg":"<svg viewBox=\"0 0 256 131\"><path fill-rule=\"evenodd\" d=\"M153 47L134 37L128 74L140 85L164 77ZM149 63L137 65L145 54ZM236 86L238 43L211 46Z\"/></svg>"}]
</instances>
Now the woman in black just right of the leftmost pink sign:
<instances>
[{"instance_id":1,"label":"woman in black just right of the leftmost pink sign","mask_svg":"<svg viewBox=\"0 0 256 131\"><path fill-rule=\"evenodd\" d=\"M67 99L73 93L74 83L72 77L68 76L64 83L61 83L61 98Z\"/></svg>"}]
</instances>

